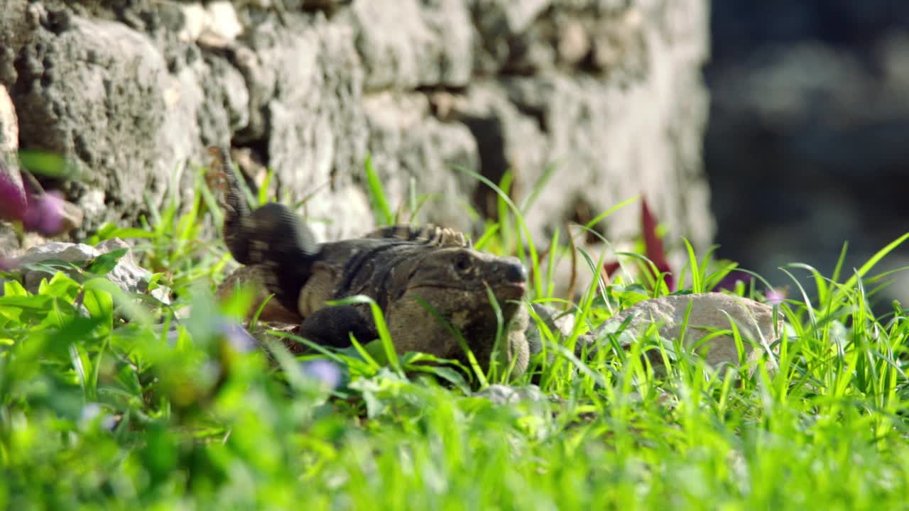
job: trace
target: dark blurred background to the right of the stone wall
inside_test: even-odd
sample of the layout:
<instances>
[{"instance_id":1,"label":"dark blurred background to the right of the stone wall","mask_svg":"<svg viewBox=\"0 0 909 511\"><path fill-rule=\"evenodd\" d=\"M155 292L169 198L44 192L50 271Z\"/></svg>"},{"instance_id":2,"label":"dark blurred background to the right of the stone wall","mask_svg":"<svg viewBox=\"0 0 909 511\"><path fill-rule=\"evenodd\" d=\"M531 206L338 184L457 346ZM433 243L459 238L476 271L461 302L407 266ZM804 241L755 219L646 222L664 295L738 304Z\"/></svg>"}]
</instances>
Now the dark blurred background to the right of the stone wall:
<instances>
[{"instance_id":1,"label":"dark blurred background to the right of the stone wall","mask_svg":"<svg viewBox=\"0 0 909 511\"><path fill-rule=\"evenodd\" d=\"M794 291L778 266L830 276L848 241L851 273L909 231L909 1L714 0L712 10L704 162L718 255ZM879 270L905 265L909 244ZM909 303L909 275L880 305L894 297Z\"/></svg>"}]
</instances>

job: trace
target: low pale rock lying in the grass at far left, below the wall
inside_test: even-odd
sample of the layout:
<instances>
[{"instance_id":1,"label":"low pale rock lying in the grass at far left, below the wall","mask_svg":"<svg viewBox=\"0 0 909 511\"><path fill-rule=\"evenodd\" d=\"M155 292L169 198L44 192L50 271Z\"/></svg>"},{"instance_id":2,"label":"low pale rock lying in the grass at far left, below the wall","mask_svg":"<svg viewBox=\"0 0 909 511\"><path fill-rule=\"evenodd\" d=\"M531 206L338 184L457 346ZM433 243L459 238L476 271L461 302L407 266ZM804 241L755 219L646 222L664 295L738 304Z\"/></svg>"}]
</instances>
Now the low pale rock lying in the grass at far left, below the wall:
<instances>
[{"instance_id":1,"label":"low pale rock lying in the grass at far left, below the wall","mask_svg":"<svg viewBox=\"0 0 909 511\"><path fill-rule=\"evenodd\" d=\"M119 238L109 239L95 246L82 243L74 244L55 241L32 247L25 252L25 255L15 259L14 263L23 274L25 289L31 293L37 293L41 280L44 278L50 279L53 275L44 270L24 268L22 267L23 265L41 263L52 259L64 261L66 263L84 263L99 255L121 248L128 249L129 245L126 245L126 243ZM77 273L75 269L65 270L65 272L70 276ZM169 291L167 288L162 286L151 292L148 291L148 281L151 276L151 272L145 268L136 266L131 252L126 252L126 255L120 258L116 266L105 275L105 278L123 289L126 293L147 293L161 302L169 304L170 298L168 296Z\"/></svg>"}]
</instances>

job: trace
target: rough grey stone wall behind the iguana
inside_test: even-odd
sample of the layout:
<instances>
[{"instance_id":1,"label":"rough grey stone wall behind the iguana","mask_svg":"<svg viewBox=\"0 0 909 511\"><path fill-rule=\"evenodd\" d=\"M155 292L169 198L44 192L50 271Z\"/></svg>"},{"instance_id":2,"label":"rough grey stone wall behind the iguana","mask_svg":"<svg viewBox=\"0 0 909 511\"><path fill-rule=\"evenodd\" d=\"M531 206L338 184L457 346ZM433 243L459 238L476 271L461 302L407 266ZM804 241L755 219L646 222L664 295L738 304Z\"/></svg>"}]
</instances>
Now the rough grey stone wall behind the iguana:
<instances>
[{"instance_id":1,"label":"rough grey stone wall behind the iguana","mask_svg":"<svg viewBox=\"0 0 909 511\"><path fill-rule=\"evenodd\" d=\"M75 236L135 222L171 186L191 192L205 146L275 169L311 195L323 238L372 225L363 164L391 204L411 182L421 220L475 230L494 200L520 203L541 244L644 192L674 235L712 241L701 164L707 0L0 0L0 85L19 145L63 153L85 210ZM315 192L315 193L314 193ZM494 199L494 197L493 197ZM637 208L607 221L638 232Z\"/></svg>"}]
</instances>

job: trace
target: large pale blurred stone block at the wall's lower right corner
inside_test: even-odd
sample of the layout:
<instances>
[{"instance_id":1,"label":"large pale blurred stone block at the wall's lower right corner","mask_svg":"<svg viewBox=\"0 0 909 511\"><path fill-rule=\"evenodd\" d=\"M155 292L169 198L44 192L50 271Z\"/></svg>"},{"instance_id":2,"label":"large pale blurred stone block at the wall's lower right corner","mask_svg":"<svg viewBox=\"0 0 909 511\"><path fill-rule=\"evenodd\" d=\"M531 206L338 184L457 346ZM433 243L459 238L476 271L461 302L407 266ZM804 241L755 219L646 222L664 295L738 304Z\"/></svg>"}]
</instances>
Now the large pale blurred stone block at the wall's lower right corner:
<instances>
[{"instance_id":1,"label":"large pale blurred stone block at the wall's lower right corner","mask_svg":"<svg viewBox=\"0 0 909 511\"><path fill-rule=\"evenodd\" d=\"M571 217L577 205L593 217L644 194L654 214L674 232L687 233L698 246L710 239L714 226L706 213L707 185L703 175L693 172L699 164L691 147L699 139L691 128L703 127L704 112L669 115L665 110L681 100L673 86L647 83L622 90L589 76L549 75L514 78L506 87L521 111L534 112L539 119L549 140L548 159L555 165L546 193L527 215L534 237L545 239L553 227L544 219ZM692 94L686 101L696 105L705 99L704 94ZM673 142L655 142L660 139ZM533 183L542 170L526 174L524 182ZM624 207L598 230L613 240L639 235L639 212L639 206Z\"/></svg>"}]
</instances>

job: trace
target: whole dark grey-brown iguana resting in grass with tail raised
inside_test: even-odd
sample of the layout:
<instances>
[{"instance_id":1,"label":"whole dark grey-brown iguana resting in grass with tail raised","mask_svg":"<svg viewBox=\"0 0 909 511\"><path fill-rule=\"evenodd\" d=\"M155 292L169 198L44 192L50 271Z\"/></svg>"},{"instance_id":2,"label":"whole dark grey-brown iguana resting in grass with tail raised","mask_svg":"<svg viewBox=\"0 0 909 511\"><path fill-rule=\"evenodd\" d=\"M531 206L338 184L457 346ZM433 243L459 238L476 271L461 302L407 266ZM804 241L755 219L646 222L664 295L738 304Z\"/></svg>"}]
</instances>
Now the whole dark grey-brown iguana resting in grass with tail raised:
<instances>
[{"instance_id":1,"label":"whole dark grey-brown iguana resting in grass with tail raised","mask_svg":"<svg viewBox=\"0 0 909 511\"><path fill-rule=\"evenodd\" d=\"M275 295L283 319L300 321L298 333L313 342L350 346L378 337L369 306L327 306L330 300L370 296L381 307L395 351L422 351L465 361L457 337L427 308L464 336L484 368L500 325L487 286L501 310L497 360L512 375L524 373L528 314L520 300L527 281L516 257L499 257L473 248L462 233L436 225L392 225L363 237L316 243L315 236L288 207L268 203L255 210L246 202L234 166L224 149L209 149L212 171L223 188L225 245ZM242 276L228 278L223 295ZM421 303L423 301L424 303ZM299 345L297 345L299 346Z\"/></svg>"}]
</instances>

